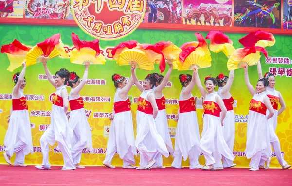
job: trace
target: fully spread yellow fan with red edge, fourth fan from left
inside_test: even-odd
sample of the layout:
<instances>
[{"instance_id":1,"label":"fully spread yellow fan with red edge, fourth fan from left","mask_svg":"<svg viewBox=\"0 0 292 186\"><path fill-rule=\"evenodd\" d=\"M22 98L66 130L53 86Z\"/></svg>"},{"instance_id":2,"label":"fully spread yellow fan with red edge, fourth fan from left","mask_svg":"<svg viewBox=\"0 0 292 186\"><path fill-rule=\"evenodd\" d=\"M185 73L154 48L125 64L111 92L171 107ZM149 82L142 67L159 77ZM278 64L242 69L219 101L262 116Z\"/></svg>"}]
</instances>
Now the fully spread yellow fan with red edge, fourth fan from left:
<instances>
[{"instance_id":1,"label":"fully spread yellow fan with red edge, fourth fan from left","mask_svg":"<svg viewBox=\"0 0 292 186\"><path fill-rule=\"evenodd\" d=\"M154 64L145 51L137 49L138 42L122 42L112 50L112 55L119 65L130 65L143 70L153 70Z\"/></svg>"}]
</instances>

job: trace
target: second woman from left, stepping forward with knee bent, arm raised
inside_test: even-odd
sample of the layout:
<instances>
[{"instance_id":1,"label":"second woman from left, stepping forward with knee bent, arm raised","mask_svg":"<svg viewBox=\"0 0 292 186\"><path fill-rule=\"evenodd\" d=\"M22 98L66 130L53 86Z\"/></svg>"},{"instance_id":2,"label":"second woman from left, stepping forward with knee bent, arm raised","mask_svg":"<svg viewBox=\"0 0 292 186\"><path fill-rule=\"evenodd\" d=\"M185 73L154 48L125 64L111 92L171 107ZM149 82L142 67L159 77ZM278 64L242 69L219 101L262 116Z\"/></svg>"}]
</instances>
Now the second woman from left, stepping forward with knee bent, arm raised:
<instances>
[{"instance_id":1,"label":"second woman from left, stepping forward with knee bent, arm raised","mask_svg":"<svg viewBox=\"0 0 292 186\"><path fill-rule=\"evenodd\" d=\"M68 92L66 83L69 79L69 71L61 68L55 73L55 80L47 67L47 61L43 61L45 72L50 83L55 87L56 92L50 96L53 102L51 111L51 124L40 138L41 152L43 154L42 165L37 165L39 170L51 169L49 163L49 144L54 145L58 142L58 148L61 150L64 159L64 166L61 170L76 169L72 155L71 142L73 131L69 127L68 118Z\"/></svg>"}]
</instances>

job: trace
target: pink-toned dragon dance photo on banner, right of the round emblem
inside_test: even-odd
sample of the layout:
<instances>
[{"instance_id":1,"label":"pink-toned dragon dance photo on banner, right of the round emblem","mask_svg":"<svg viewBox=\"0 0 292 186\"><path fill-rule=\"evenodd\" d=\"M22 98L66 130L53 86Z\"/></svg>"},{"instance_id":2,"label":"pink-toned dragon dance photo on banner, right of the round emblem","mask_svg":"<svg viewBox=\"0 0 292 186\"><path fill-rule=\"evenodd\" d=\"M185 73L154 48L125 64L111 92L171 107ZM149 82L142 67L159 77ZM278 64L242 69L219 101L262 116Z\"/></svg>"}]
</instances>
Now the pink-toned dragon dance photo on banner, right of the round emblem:
<instances>
[{"instance_id":1,"label":"pink-toned dragon dance photo on banner, right of the round emblem","mask_svg":"<svg viewBox=\"0 0 292 186\"><path fill-rule=\"evenodd\" d=\"M232 25L232 0L184 0L183 24Z\"/></svg>"}]
</instances>

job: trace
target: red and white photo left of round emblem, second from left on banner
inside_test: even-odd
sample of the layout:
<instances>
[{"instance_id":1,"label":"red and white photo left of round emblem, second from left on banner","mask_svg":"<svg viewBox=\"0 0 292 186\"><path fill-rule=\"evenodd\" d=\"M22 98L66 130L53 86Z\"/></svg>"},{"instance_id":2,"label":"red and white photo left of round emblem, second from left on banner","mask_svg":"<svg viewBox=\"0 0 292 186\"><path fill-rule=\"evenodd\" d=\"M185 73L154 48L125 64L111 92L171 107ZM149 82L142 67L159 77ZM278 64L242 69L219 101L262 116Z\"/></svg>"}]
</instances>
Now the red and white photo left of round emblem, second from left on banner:
<instances>
[{"instance_id":1,"label":"red and white photo left of round emblem, second from left on banner","mask_svg":"<svg viewBox=\"0 0 292 186\"><path fill-rule=\"evenodd\" d=\"M27 0L25 18L74 19L70 0Z\"/></svg>"}]
</instances>

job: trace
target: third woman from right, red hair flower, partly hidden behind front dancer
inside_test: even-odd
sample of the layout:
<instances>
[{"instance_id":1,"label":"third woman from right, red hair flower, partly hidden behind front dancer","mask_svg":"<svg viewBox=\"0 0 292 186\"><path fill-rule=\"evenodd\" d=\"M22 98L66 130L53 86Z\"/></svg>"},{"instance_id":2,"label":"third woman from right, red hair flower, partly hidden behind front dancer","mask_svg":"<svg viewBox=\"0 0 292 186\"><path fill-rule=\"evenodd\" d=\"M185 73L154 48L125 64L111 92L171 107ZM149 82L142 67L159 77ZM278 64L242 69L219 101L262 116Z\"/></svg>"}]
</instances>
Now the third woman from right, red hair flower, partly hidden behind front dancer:
<instances>
[{"instance_id":1,"label":"third woman from right, red hair flower, partly hidden behind front dancer","mask_svg":"<svg viewBox=\"0 0 292 186\"><path fill-rule=\"evenodd\" d=\"M234 99L232 95L230 94L230 88L232 86L234 80L234 70L230 70L229 72L229 78L228 76L224 76L224 74L219 74L216 77L216 81L218 83L218 95L223 99L224 105L227 109L226 117L223 121L223 136L225 139L225 142L227 143L229 149L231 152L233 152L233 146L234 146L234 110L233 110L233 104ZM223 159L223 168L230 168L236 166L233 161L222 157Z\"/></svg>"}]
</instances>

